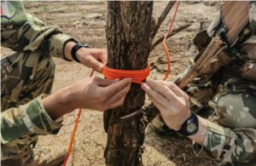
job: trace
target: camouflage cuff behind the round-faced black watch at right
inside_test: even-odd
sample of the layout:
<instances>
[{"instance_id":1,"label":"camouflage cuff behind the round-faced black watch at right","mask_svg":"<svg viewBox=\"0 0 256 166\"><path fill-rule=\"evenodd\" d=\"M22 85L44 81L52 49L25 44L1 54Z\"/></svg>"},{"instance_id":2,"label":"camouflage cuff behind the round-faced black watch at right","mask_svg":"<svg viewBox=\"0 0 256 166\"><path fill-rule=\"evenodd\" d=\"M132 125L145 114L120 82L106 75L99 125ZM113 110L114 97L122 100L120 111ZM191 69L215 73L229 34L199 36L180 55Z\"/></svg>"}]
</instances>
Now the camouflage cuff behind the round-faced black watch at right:
<instances>
[{"instance_id":1,"label":"camouflage cuff behind the round-faced black watch at right","mask_svg":"<svg viewBox=\"0 0 256 166\"><path fill-rule=\"evenodd\" d=\"M193 142L195 156L220 159L225 140L226 136L224 133L224 128L216 123L208 121L207 136L204 144L201 146L200 144Z\"/></svg>"}]
</instances>

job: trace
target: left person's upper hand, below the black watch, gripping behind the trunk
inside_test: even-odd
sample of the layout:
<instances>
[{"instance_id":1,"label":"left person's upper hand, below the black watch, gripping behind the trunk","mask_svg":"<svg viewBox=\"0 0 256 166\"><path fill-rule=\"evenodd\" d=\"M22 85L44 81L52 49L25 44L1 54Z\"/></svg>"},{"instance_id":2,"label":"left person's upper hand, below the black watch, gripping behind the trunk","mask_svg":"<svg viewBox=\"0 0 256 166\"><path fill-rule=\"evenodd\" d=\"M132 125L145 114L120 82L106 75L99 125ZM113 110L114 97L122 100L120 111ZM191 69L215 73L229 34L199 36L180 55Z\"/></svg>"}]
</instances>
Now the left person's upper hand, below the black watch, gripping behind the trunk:
<instances>
[{"instance_id":1,"label":"left person's upper hand, below the black watch, gripping behind the trunk","mask_svg":"<svg viewBox=\"0 0 256 166\"><path fill-rule=\"evenodd\" d=\"M93 68L96 72L102 72L103 64L107 63L107 49L81 48L77 52L77 58L87 67Z\"/></svg>"}]
</instances>

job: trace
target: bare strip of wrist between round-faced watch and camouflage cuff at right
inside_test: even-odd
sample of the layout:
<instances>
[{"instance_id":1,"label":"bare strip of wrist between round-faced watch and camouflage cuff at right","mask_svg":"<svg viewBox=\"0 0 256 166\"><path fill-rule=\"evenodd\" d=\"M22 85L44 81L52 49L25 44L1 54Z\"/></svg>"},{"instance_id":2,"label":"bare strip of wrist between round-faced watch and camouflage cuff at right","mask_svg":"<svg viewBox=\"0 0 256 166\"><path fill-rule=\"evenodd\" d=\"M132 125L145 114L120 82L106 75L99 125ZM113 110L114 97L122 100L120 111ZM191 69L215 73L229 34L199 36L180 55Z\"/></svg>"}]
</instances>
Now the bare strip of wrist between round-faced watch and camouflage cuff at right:
<instances>
[{"instance_id":1,"label":"bare strip of wrist between round-faced watch and camouflage cuff at right","mask_svg":"<svg viewBox=\"0 0 256 166\"><path fill-rule=\"evenodd\" d=\"M191 140L194 140L196 143L203 145L206 137L207 137L207 119L204 119L202 117L198 117L198 131L196 132L195 135L190 135L189 138Z\"/></svg>"}]
</instances>

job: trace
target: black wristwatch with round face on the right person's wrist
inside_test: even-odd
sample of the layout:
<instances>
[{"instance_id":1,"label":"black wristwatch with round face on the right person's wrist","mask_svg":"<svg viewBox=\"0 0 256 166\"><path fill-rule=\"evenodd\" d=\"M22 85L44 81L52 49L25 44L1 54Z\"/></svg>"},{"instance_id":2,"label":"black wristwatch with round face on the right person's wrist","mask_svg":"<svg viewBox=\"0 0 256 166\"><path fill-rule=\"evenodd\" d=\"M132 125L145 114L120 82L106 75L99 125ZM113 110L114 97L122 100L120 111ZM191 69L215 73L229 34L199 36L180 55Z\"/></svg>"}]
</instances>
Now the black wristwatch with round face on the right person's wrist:
<instances>
[{"instance_id":1,"label":"black wristwatch with round face on the right person's wrist","mask_svg":"<svg viewBox=\"0 0 256 166\"><path fill-rule=\"evenodd\" d=\"M178 134L189 136L195 135L198 131L198 117L191 112L191 116L183 123L182 128L177 131Z\"/></svg>"}]
</instances>

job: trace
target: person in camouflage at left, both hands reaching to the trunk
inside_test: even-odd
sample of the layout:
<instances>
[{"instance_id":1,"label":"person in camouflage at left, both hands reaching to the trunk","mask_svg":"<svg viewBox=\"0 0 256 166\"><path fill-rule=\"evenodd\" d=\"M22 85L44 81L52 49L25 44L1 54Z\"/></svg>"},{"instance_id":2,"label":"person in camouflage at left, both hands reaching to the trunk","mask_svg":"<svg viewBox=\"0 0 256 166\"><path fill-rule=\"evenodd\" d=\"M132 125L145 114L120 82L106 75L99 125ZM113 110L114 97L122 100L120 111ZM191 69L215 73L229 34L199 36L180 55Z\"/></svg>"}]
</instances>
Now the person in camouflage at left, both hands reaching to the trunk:
<instances>
[{"instance_id":1,"label":"person in camouflage at left, both hands reaching to the trunk","mask_svg":"<svg viewBox=\"0 0 256 166\"><path fill-rule=\"evenodd\" d=\"M106 49L80 48L77 40L58 27L44 26L27 14L19 1L1 1L1 46L15 51L1 60L1 163L2 165L56 165L61 147L48 157L33 154L38 135L57 134L62 115L76 108L98 111L123 104L131 79L110 81L90 77L51 93L55 76L53 56L76 59L102 70Z\"/></svg>"}]
</instances>

